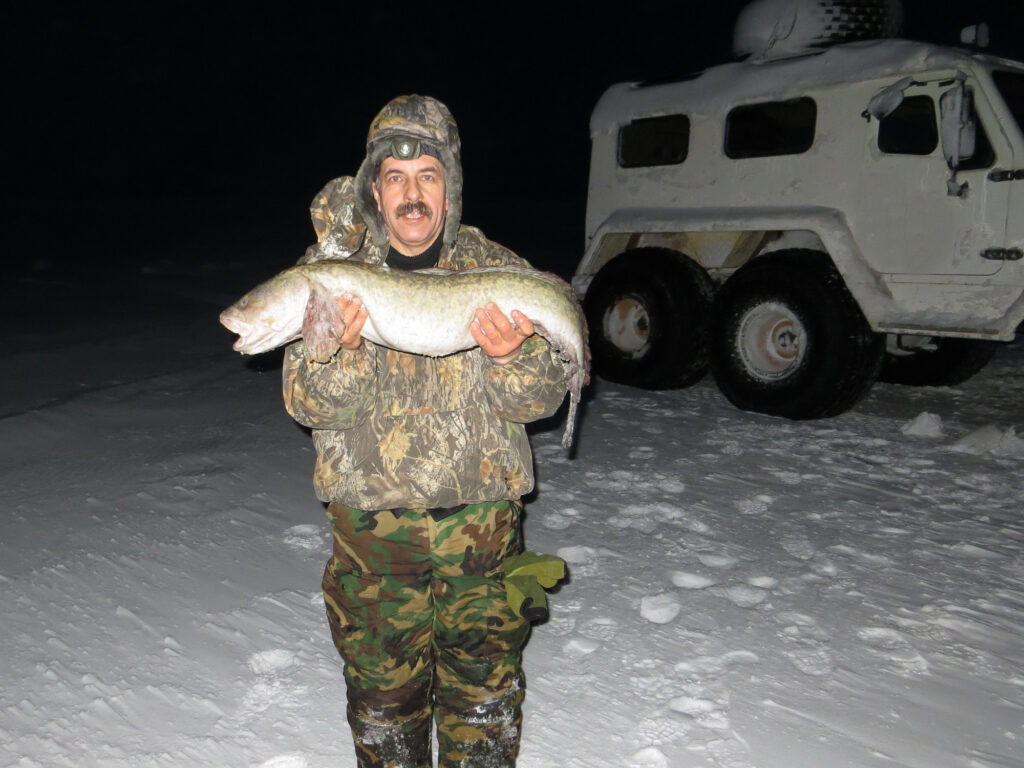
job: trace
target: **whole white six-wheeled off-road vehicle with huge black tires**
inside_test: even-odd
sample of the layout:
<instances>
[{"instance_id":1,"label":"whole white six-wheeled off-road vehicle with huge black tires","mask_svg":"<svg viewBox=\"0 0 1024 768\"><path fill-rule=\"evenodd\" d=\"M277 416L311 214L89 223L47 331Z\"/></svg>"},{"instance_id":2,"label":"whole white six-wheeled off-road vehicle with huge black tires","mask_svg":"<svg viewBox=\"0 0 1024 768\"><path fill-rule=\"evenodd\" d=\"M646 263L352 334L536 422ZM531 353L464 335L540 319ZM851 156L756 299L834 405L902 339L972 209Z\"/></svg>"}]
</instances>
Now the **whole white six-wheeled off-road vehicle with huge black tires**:
<instances>
[{"instance_id":1,"label":"whole white six-wheeled off-road vehicle with huge black tires","mask_svg":"<svg viewBox=\"0 0 1024 768\"><path fill-rule=\"evenodd\" d=\"M597 373L710 366L737 407L795 419L880 376L965 381L1024 321L1024 63L772 34L597 103L573 278Z\"/></svg>"}]
</instances>

